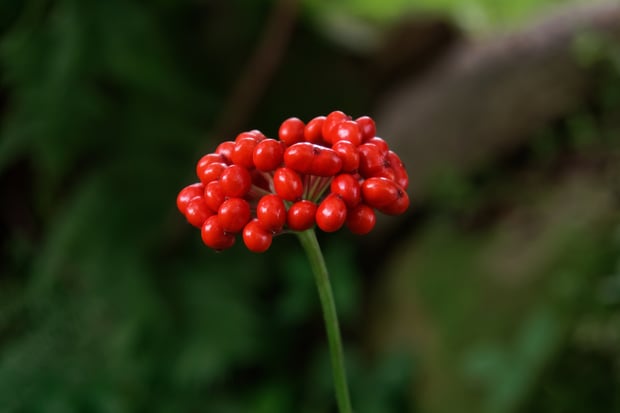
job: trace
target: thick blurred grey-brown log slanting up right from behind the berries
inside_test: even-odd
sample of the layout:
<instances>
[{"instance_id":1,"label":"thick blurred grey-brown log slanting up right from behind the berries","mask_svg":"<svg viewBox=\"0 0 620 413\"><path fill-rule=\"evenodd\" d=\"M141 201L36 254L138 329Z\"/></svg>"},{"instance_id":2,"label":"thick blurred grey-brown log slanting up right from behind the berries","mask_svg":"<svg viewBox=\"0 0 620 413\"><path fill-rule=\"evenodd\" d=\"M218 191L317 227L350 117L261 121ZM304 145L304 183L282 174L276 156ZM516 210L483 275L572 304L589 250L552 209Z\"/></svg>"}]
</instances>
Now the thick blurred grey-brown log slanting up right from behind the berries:
<instances>
[{"instance_id":1,"label":"thick blurred grey-brown log slanting up right from behind the berries","mask_svg":"<svg viewBox=\"0 0 620 413\"><path fill-rule=\"evenodd\" d=\"M620 5L567 9L514 34L461 41L385 93L379 133L410 167L414 197L424 198L437 171L475 169L583 104L595 80L576 56L583 35L620 40Z\"/></svg>"}]
</instances>

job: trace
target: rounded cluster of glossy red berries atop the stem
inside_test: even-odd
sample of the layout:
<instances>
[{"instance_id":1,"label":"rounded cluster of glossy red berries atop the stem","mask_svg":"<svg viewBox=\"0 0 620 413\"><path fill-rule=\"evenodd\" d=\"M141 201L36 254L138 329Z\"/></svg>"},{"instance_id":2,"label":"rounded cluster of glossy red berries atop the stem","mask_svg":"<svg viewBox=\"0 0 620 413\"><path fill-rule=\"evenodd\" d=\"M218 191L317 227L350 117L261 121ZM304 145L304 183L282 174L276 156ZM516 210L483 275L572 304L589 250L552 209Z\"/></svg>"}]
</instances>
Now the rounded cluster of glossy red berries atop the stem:
<instances>
[{"instance_id":1,"label":"rounded cluster of glossy red berries atop the stem","mask_svg":"<svg viewBox=\"0 0 620 413\"><path fill-rule=\"evenodd\" d=\"M315 224L366 234L375 210L399 215L409 207L407 171L375 132L370 117L340 111L307 124L286 119L279 140L243 132L198 161L200 182L181 190L177 206L216 250L242 233L248 249L263 252L274 235Z\"/></svg>"}]
</instances>

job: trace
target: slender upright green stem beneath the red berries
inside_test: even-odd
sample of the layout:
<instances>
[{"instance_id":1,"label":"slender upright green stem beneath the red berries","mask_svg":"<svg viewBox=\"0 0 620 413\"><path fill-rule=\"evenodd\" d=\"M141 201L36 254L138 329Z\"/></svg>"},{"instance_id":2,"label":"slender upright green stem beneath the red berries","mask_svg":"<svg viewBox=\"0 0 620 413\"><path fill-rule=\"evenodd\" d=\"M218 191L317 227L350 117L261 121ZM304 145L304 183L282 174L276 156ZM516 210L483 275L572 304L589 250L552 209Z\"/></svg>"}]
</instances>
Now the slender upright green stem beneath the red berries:
<instances>
[{"instance_id":1,"label":"slender upright green stem beneath the red berries","mask_svg":"<svg viewBox=\"0 0 620 413\"><path fill-rule=\"evenodd\" d=\"M312 272L314 273L316 285L319 290L321 306L323 307L323 318L325 319L325 328L327 330L327 339L329 341L329 352L332 360L338 410L340 413L352 413L353 410L351 409L347 375L344 368L340 326L338 324L336 304L334 303L334 294L332 293L332 287L329 282L329 274L327 272L327 266L325 265L325 259L323 258L319 242L316 239L314 229L297 232L296 234L310 260L310 266L312 267Z\"/></svg>"}]
</instances>

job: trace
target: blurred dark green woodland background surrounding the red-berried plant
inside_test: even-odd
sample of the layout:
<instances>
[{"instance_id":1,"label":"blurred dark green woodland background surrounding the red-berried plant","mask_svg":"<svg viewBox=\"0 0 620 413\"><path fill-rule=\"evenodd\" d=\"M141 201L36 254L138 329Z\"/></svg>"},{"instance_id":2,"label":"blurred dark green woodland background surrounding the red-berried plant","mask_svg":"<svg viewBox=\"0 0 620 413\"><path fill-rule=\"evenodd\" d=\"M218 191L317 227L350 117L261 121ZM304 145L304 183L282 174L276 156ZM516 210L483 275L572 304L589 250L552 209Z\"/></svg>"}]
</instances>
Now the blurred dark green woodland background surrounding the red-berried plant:
<instances>
[{"instance_id":1,"label":"blurred dark green woodland background surrounding the red-berried plant","mask_svg":"<svg viewBox=\"0 0 620 413\"><path fill-rule=\"evenodd\" d=\"M321 236L358 413L620 412L616 1L3 0L0 411L335 412L292 236L176 211L217 142L375 117L410 212Z\"/></svg>"}]
</instances>

